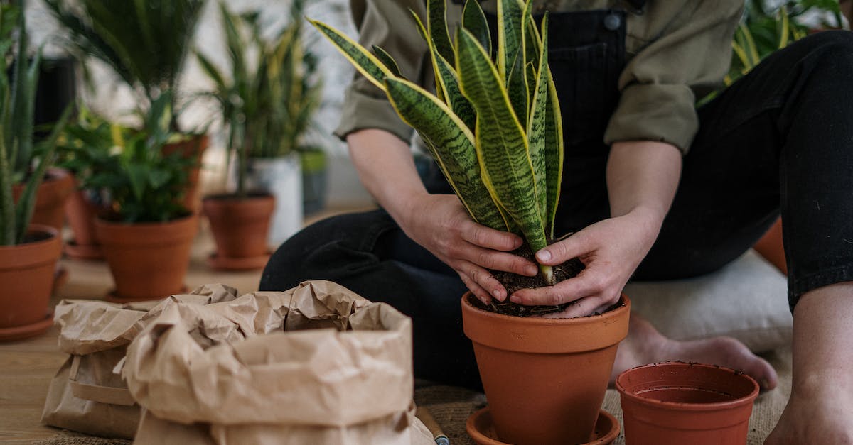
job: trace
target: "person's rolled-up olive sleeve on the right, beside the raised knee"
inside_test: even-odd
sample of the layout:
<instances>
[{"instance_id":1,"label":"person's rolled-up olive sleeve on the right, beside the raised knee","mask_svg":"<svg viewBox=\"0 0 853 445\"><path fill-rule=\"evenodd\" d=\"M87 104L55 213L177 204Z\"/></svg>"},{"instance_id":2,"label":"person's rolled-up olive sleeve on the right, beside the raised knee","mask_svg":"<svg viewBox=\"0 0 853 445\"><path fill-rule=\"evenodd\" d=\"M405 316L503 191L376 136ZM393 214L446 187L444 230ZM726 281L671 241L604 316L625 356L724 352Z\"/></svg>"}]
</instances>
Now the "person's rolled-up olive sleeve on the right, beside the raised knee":
<instances>
[{"instance_id":1,"label":"person's rolled-up olive sleeve on the right, beside the raised knee","mask_svg":"<svg viewBox=\"0 0 853 445\"><path fill-rule=\"evenodd\" d=\"M676 2L672 2L676 3ZM605 142L668 142L687 153L699 130L694 103L722 81L743 2L650 2L653 20L638 20L650 37L619 78L621 96ZM700 98L700 97L699 97Z\"/></svg>"}]
</instances>

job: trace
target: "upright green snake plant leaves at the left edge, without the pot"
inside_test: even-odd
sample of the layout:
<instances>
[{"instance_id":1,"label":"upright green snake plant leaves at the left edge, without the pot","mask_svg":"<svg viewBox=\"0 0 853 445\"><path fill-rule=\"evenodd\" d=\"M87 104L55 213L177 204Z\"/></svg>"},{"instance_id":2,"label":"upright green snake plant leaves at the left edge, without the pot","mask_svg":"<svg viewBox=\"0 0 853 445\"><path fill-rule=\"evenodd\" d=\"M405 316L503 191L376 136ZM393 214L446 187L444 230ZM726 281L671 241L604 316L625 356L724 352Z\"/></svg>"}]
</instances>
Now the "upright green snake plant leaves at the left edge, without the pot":
<instances>
[{"instance_id":1,"label":"upright green snake plant leaves at the left edge, without the pot","mask_svg":"<svg viewBox=\"0 0 853 445\"><path fill-rule=\"evenodd\" d=\"M53 161L58 130L70 113L69 108L62 114L60 123L41 142L43 148L35 150L32 140L33 107L41 51L29 59L23 10L23 0L0 4L0 246L24 242L35 207L36 190ZM9 78L8 61L13 55L15 34L16 61ZM16 183L24 184L17 203L12 191Z\"/></svg>"}]
</instances>

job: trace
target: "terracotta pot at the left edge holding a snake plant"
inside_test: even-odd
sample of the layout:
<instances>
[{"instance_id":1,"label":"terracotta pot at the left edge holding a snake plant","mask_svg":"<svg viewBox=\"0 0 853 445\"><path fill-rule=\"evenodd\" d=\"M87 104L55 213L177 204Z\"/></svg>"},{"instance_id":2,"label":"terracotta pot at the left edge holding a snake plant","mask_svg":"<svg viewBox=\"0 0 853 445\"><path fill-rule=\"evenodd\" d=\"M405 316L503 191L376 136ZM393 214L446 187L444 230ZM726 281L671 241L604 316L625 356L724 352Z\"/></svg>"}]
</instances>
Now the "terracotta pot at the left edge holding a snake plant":
<instances>
[{"instance_id":1,"label":"terracotta pot at the left edge holding a snake plant","mask_svg":"<svg viewBox=\"0 0 853 445\"><path fill-rule=\"evenodd\" d=\"M53 326L48 303L62 241L45 225L32 224L29 234L37 240L0 246L0 340L32 337Z\"/></svg>"}]
</instances>

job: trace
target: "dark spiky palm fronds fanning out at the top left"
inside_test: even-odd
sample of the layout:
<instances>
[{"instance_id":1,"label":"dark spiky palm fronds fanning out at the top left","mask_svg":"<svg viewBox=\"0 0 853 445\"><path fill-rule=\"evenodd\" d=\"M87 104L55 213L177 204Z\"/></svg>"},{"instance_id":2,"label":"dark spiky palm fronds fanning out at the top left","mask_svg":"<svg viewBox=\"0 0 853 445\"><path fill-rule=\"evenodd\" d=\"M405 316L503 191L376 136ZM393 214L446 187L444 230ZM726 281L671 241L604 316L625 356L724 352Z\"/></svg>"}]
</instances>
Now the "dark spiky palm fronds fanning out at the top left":
<instances>
[{"instance_id":1,"label":"dark spiky palm fronds fanning out at the top left","mask_svg":"<svg viewBox=\"0 0 853 445\"><path fill-rule=\"evenodd\" d=\"M177 90L205 0L45 3L69 32L68 49L81 60L95 57L105 62L142 99L153 104L165 91ZM174 100L175 95L171 97ZM177 121L170 124L177 130Z\"/></svg>"}]
</instances>

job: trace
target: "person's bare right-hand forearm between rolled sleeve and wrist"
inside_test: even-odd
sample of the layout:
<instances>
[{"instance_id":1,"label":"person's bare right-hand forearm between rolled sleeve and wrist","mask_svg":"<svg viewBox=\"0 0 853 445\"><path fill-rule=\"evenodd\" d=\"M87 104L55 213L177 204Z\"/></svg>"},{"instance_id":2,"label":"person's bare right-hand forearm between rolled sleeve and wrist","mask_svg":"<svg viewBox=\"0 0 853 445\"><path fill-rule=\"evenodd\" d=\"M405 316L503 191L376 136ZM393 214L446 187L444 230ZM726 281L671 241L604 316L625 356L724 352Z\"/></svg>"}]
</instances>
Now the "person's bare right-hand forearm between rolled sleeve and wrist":
<instances>
[{"instance_id":1,"label":"person's bare right-hand forearm between rolled sleeve and wrist","mask_svg":"<svg viewBox=\"0 0 853 445\"><path fill-rule=\"evenodd\" d=\"M641 211L663 222L682 172L682 154L664 142L614 142L607 161L611 217Z\"/></svg>"}]
</instances>

